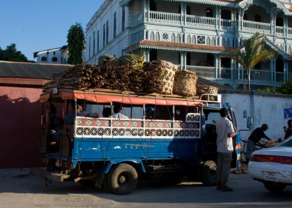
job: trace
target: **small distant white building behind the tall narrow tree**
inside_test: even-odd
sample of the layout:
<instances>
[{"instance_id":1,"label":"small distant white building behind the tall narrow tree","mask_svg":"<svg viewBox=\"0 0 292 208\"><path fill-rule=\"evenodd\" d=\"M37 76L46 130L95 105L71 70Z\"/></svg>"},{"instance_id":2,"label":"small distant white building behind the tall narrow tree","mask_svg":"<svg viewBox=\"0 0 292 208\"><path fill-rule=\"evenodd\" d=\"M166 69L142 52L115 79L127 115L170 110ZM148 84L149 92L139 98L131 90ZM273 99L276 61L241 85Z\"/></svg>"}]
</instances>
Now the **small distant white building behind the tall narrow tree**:
<instances>
[{"instance_id":1,"label":"small distant white building behind the tall narrow tree","mask_svg":"<svg viewBox=\"0 0 292 208\"><path fill-rule=\"evenodd\" d=\"M68 46L46 49L33 53L37 63L43 64L67 64L69 54ZM85 49L82 53L82 62L85 62Z\"/></svg>"}]
</instances>

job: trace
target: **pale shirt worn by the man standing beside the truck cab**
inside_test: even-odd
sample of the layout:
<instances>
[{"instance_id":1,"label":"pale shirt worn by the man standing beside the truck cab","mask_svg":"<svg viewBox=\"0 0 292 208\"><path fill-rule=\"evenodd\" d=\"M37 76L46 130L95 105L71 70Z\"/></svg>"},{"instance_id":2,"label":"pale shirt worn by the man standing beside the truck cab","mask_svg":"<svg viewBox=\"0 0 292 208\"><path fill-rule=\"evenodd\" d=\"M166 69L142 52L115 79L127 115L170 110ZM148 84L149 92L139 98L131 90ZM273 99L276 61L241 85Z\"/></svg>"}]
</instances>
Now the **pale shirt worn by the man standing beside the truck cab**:
<instances>
[{"instance_id":1,"label":"pale shirt worn by the man standing beside the truck cab","mask_svg":"<svg viewBox=\"0 0 292 208\"><path fill-rule=\"evenodd\" d=\"M217 152L231 153L233 152L232 138L228 138L228 134L234 133L232 122L226 118L221 117L216 121L217 132Z\"/></svg>"}]
</instances>

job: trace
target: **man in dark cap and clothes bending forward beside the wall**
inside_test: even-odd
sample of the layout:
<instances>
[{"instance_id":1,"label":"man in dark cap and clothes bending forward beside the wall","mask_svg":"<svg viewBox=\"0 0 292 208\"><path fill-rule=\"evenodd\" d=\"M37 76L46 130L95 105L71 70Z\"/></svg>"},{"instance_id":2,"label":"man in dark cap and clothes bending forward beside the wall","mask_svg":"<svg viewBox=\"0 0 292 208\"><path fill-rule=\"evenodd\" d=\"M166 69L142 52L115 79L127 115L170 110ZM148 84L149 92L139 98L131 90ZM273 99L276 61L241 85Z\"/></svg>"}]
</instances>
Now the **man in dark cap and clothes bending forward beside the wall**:
<instances>
[{"instance_id":1,"label":"man in dark cap and clothes bending forward beside the wall","mask_svg":"<svg viewBox=\"0 0 292 208\"><path fill-rule=\"evenodd\" d=\"M250 156L252 155L252 153L255 151L255 147L256 144L259 146L262 146L262 144L260 143L260 140L262 138L265 138L267 140L272 140L270 138L268 138L264 132L268 129L268 125L263 123L262 127L256 128L253 133L249 136L249 138L247 139L247 146L246 146L246 165L249 162Z\"/></svg>"}]
</instances>

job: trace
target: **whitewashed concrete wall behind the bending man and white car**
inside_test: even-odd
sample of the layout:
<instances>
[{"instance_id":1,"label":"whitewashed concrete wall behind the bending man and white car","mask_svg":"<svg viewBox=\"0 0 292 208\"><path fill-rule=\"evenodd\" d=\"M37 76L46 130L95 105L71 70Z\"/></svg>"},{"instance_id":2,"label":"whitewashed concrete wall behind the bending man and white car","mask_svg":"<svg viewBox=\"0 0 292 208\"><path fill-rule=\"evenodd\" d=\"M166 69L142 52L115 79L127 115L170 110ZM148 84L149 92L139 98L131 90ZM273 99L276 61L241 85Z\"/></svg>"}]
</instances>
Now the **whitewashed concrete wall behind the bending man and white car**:
<instances>
[{"instance_id":1,"label":"whitewashed concrete wall behind the bending man and white car","mask_svg":"<svg viewBox=\"0 0 292 208\"><path fill-rule=\"evenodd\" d=\"M243 118L243 111L247 117L253 118L251 131L242 131L241 139L247 139L252 131L268 124L265 132L271 139L284 138L283 126L287 126L288 119L284 119L284 109L292 108L292 95L261 93L257 91L221 91L222 101L228 102L235 111L237 129L246 129L247 118Z\"/></svg>"}]
</instances>

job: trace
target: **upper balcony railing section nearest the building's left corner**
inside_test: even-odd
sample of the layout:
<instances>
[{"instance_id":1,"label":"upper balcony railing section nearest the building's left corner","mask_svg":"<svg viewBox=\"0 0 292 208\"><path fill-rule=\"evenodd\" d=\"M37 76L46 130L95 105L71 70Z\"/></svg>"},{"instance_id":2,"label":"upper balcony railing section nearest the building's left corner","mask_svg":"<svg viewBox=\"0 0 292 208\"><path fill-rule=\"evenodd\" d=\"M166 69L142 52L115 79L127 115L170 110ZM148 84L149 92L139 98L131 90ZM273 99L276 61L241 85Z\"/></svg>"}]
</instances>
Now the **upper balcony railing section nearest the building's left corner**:
<instances>
[{"instance_id":1,"label":"upper balcony railing section nearest the building's left corner","mask_svg":"<svg viewBox=\"0 0 292 208\"><path fill-rule=\"evenodd\" d=\"M164 24L181 24L181 15L175 13L167 13L167 12L146 12L146 18L150 23L164 23Z\"/></svg>"}]
</instances>

